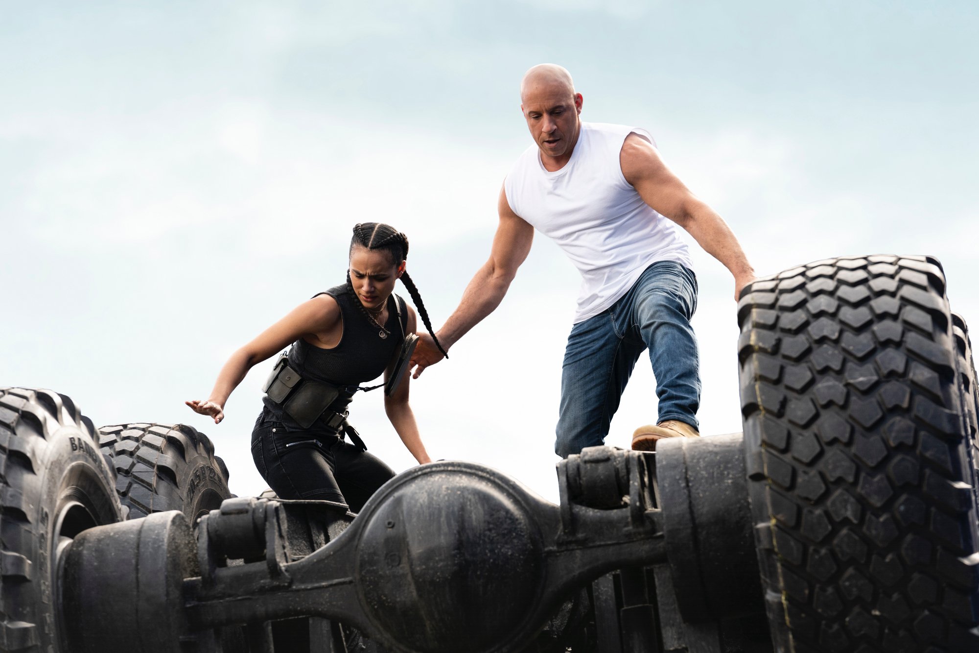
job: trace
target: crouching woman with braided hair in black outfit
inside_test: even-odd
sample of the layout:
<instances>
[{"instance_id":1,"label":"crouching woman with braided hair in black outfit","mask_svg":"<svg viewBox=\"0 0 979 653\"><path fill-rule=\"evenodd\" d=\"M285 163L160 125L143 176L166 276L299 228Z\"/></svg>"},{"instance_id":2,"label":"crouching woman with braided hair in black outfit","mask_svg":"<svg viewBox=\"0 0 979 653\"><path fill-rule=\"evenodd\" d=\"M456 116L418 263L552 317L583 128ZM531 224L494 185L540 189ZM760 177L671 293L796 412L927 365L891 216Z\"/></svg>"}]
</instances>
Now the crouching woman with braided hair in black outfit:
<instances>
[{"instance_id":1,"label":"crouching woman with braided hair in black outfit","mask_svg":"<svg viewBox=\"0 0 979 653\"><path fill-rule=\"evenodd\" d=\"M219 423L228 395L248 371L292 345L266 383L264 407L252 432L258 472L280 498L336 501L359 512L395 476L367 453L347 423L354 392L380 387L360 384L382 373L391 381L384 398L391 424L419 464L431 462L408 405L410 375L400 374L407 361L398 365L403 345L414 339L416 319L394 294L396 279L433 330L418 289L404 271L407 254L407 236L393 226L354 226L347 282L303 302L232 354L206 401L186 402Z\"/></svg>"}]
</instances>

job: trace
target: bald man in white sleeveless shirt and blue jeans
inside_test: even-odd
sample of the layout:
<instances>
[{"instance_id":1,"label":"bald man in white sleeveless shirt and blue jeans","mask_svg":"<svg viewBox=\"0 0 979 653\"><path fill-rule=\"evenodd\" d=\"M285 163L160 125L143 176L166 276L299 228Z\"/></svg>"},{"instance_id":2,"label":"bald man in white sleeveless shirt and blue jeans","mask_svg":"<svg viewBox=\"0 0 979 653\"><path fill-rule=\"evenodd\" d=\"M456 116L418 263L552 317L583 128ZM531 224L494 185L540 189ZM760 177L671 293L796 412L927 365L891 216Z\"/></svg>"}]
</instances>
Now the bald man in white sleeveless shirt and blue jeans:
<instances>
[{"instance_id":1,"label":"bald man in white sleeveless shirt and blue jeans","mask_svg":"<svg viewBox=\"0 0 979 653\"><path fill-rule=\"evenodd\" d=\"M524 75L520 99L535 144L503 182L489 261L439 329L439 340L451 347L499 305L536 228L560 245L583 278L564 356L557 454L602 444L646 349L659 416L656 425L635 430L632 448L653 450L664 437L699 435L699 363L690 327L697 279L677 226L734 276L735 300L754 270L721 216L663 163L649 132L581 121L583 97L568 71L535 66ZM415 377L441 358L423 335L412 358Z\"/></svg>"}]
</instances>

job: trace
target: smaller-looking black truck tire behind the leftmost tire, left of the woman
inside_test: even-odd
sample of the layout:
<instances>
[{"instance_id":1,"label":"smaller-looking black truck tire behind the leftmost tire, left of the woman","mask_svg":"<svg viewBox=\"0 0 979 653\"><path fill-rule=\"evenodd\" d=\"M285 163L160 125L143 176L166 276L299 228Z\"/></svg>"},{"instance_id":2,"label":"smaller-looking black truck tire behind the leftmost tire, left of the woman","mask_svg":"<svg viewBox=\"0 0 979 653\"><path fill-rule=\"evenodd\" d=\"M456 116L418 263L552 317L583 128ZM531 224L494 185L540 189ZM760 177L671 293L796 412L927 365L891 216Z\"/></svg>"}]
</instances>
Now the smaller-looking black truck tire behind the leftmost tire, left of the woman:
<instances>
[{"instance_id":1,"label":"smaller-looking black truck tire behind the leftmost tire, left of the woman","mask_svg":"<svg viewBox=\"0 0 979 653\"><path fill-rule=\"evenodd\" d=\"M210 437L194 427L101 427L99 444L116 468L116 489L128 519L180 510L194 525L232 496L227 466L214 455Z\"/></svg>"}]
</instances>

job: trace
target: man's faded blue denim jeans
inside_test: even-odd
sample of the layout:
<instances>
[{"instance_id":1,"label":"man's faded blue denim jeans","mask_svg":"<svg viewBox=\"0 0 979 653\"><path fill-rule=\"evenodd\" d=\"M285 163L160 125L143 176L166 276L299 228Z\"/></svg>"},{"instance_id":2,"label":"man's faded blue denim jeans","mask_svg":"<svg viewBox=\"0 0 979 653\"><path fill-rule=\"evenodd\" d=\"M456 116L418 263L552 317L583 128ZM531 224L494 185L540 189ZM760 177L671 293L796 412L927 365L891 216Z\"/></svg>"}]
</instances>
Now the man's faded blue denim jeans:
<instances>
[{"instance_id":1,"label":"man's faded blue denim jeans","mask_svg":"<svg viewBox=\"0 0 979 653\"><path fill-rule=\"evenodd\" d=\"M647 348L659 397L657 422L699 426L700 360L690 326L696 308L697 277L678 263L660 261L611 308L572 327L561 375L554 445L559 456L602 444L632 368Z\"/></svg>"}]
</instances>

